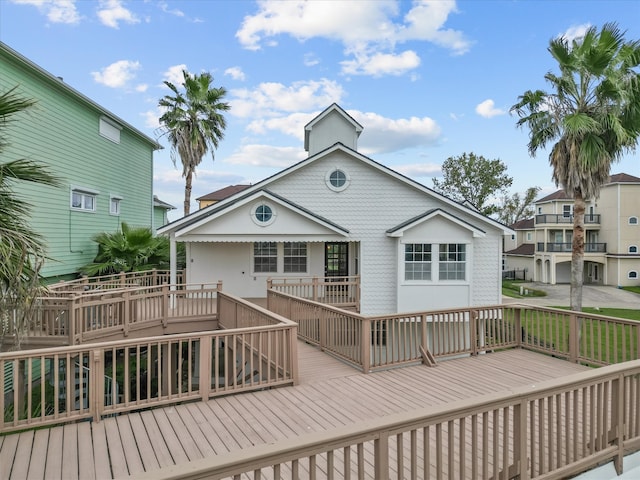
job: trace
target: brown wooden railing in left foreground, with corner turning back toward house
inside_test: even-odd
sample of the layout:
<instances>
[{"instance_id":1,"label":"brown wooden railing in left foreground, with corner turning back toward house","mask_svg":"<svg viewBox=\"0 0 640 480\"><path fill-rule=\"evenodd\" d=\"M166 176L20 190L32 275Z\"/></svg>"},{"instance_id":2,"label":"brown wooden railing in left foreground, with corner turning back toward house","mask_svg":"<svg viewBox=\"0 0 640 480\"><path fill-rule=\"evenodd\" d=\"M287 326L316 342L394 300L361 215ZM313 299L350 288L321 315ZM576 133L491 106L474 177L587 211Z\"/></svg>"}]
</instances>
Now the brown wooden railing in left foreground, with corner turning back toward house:
<instances>
[{"instance_id":1,"label":"brown wooden railing in left foreground, with corner turning back toward house","mask_svg":"<svg viewBox=\"0 0 640 480\"><path fill-rule=\"evenodd\" d=\"M217 301L224 330L1 353L0 432L297 383L296 324Z\"/></svg>"}]
</instances>

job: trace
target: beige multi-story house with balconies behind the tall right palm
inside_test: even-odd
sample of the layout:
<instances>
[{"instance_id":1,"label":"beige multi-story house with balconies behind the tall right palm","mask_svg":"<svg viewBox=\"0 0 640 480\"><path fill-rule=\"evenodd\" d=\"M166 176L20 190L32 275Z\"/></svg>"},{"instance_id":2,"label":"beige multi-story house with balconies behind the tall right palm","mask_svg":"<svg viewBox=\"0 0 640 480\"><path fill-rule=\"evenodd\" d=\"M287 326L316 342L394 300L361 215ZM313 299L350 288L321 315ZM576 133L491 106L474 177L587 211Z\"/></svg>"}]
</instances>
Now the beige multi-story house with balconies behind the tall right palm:
<instances>
[{"instance_id":1,"label":"beige multi-story house with balconies behind the tall right palm","mask_svg":"<svg viewBox=\"0 0 640 480\"><path fill-rule=\"evenodd\" d=\"M535 203L534 218L512 225L505 238L505 270L527 269L526 279L571 281L573 200L562 190ZM584 283L640 285L640 178L612 175L585 212Z\"/></svg>"}]
</instances>

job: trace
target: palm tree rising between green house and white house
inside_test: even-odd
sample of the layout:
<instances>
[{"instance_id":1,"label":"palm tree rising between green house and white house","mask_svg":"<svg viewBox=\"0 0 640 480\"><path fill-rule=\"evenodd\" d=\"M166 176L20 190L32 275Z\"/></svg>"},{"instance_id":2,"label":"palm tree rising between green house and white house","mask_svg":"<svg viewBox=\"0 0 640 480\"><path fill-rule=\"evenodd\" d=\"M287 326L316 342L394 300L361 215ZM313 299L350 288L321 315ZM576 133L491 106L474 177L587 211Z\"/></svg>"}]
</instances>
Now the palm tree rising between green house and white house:
<instances>
[{"instance_id":1,"label":"palm tree rising between green house and white house","mask_svg":"<svg viewBox=\"0 0 640 480\"><path fill-rule=\"evenodd\" d=\"M229 104L222 101L227 94L225 88L211 86L213 76L210 73L191 75L183 70L182 75L184 93L165 81L173 95L165 95L158 105L166 109L160 117L160 124L171 143L171 159L175 165L177 153L182 161L184 214L188 215L193 174L208 151L214 158L214 151L226 128L222 112L229 110Z\"/></svg>"}]
</instances>

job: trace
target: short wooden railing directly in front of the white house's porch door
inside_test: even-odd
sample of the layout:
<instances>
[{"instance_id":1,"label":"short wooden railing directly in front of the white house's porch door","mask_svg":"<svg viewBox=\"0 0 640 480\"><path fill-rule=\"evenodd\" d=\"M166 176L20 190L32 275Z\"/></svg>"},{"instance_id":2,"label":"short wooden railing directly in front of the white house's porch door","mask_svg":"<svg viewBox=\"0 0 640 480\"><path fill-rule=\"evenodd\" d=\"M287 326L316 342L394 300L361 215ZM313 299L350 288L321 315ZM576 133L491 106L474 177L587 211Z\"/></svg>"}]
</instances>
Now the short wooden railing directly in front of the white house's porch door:
<instances>
[{"instance_id":1,"label":"short wooden railing directly in front of the white house's porch door","mask_svg":"<svg viewBox=\"0 0 640 480\"><path fill-rule=\"evenodd\" d=\"M360 310L360 277L269 278L267 290L276 290L314 302Z\"/></svg>"}]
</instances>

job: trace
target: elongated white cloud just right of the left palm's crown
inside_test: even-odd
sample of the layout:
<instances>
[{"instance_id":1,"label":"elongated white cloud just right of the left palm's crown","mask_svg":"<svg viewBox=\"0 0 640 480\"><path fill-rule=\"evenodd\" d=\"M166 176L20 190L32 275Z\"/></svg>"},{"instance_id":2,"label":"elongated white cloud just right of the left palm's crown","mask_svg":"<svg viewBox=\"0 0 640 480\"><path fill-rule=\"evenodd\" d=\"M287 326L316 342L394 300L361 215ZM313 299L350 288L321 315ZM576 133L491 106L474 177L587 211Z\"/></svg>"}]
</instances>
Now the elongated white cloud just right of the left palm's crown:
<instances>
[{"instance_id":1,"label":"elongated white cloud just right of the left palm's crown","mask_svg":"<svg viewBox=\"0 0 640 480\"><path fill-rule=\"evenodd\" d=\"M234 89L229 93L231 115L260 118L324 108L334 102L339 103L344 90L340 84L323 78L294 82L290 86L265 82L253 90Z\"/></svg>"}]
</instances>

